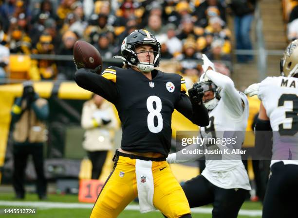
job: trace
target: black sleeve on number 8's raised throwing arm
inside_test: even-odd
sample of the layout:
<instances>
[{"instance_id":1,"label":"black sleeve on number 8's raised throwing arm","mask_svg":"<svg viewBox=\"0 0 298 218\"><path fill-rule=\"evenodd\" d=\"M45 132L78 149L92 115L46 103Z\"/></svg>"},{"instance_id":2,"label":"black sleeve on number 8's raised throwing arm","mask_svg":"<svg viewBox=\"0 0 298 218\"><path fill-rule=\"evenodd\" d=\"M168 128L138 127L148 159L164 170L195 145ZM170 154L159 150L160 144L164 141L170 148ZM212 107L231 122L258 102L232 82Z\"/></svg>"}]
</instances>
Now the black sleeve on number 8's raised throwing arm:
<instances>
[{"instance_id":1,"label":"black sleeve on number 8's raised throwing arm","mask_svg":"<svg viewBox=\"0 0 298 218\"><path fill-rule=\"evenodd\" d=\"M117 102L119 93L116 84L101 75L90 72L90 69L78 69L74 79L78 86L102 96L113 104Z\"/></svg>"}]
</instances>

